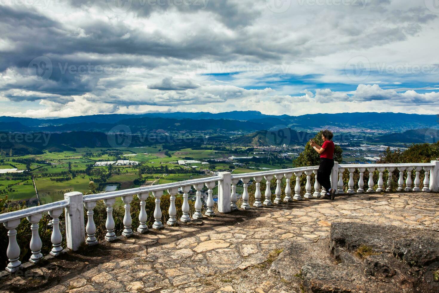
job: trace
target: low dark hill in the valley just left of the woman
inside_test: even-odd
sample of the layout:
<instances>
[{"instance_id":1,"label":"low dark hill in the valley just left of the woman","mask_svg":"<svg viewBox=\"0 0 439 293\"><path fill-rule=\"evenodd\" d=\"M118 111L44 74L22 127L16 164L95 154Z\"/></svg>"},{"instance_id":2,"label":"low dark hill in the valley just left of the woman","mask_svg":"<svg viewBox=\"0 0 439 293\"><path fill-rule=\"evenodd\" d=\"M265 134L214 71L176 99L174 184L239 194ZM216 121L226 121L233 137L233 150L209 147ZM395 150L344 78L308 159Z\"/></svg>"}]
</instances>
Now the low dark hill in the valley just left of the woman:
<instances>
[{"instance_id":1,"label":"low dark hill in the valley just left of the woman","mask_svg":"<svg viewBox=\"0 0 439 293\"><path fill-rule=\"evenodd\" d=\"M234 143L246 146L296 145L305 144L315 133L296 131L291 128L256 131L234 139Z\"/></svg>"}]
</instances>

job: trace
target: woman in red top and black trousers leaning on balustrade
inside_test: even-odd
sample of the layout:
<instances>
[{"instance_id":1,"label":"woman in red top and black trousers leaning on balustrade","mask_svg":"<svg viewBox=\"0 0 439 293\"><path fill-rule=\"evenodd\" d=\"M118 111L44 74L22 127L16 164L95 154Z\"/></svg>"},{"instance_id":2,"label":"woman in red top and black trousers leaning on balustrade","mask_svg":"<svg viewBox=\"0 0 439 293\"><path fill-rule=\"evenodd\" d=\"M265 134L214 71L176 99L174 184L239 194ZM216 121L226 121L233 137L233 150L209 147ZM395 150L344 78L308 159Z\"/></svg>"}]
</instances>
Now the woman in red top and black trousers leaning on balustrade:
<instances>
[{"instance_id":1,"label":"woman in red top and black trousers leaning on balustrade","mask_svg":"<svg viewBox=\"0 0 439 293\"><path fill-rule=\"evenodd\" d=\"M331 188L331 172L334 167L334 142L332 142L332 137L334 134L330 130L322 131L323 145L317 145L316 142L311 139L309 141L313 149L320 154L320 166L317 171L317 181L326 190L325 198L330 198L334 200L336 189Z\"/></svg>"}]
</instances>

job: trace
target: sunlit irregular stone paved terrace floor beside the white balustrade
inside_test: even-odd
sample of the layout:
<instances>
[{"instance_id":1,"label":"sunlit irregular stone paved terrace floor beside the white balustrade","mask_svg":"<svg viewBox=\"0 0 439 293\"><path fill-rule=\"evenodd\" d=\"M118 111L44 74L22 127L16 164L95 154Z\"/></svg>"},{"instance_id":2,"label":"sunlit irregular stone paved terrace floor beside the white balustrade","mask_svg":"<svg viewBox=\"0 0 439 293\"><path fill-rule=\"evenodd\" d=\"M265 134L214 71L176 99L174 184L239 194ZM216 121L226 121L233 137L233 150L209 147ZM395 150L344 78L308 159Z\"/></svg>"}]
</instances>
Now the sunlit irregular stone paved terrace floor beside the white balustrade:
<instances>
[{"instance_id":1,"label":"sunlit irregular stone paved terrace floor beside the white balustrade","mask_svg":"<svg viewBox=\"0 0 439 293\"><path fill-rule=\"evenodd\" d=\"M301 292L300 279L285 282L270 271L270 253L301 247L291 263L329 254L334 222L439 228L435 193L341 195L238 210L180 223L115 242L68 251L27 268L27 277L4 275L0 289L13 292ZM279 253L279 251L277 251ZM272 253L276 256L277 253ZM29 277L32 276L32 277Z\"/></svg>"}]
</instances>

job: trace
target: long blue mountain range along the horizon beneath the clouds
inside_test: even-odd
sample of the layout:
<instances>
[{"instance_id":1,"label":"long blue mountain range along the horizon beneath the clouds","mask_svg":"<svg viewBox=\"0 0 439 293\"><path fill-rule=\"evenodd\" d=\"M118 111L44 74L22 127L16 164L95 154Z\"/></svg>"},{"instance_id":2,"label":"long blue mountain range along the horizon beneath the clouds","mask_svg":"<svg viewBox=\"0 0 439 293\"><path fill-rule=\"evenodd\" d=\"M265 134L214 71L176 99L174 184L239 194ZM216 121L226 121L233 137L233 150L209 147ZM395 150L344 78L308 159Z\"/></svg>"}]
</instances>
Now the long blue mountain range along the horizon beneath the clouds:
<instances>
[{"instance_id":1,"label":"long blue mountain range along the horizon beneath the clouds","mask_svg":"<svg viewBox=\"0 0 439 293\"><path fill-rule=\"evenodd\" d=\"M405 131L421 128L438 128L436 115L418 115L404 113L338 113L307 114L302 116L265 115L258 111L233 111L223 113L174 112L108 114L76 116L56 119L33 119L22 117L0 117L0 131L102 131L106 132L115 125L125 124L135 130L243 130L294 128L316 131L323 127L340 129L394 130ZM7 123L7 124L4 124ZM14 126L16 124L16 126ZM20 124L22 126L20 126ZM22 128L20 128L22 127ZM26 130L23 127L30 127ZM17 130L14 130L17 129Z\"/></svg>"}]
</instances>

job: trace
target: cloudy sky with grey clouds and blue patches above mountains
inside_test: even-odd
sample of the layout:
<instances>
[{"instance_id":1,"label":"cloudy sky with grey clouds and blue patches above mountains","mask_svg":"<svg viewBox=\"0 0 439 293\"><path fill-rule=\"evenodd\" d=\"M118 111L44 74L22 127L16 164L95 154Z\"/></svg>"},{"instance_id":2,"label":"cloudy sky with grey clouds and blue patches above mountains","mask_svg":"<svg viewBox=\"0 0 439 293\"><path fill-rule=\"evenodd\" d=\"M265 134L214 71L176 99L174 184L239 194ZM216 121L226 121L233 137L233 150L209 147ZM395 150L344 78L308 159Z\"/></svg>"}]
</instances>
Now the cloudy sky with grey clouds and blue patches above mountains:
<instances>
[{"instance_id":1,"label":"cloudy sky with grey clouds and blue patches above mountains","mask_svg":"<svg viewBox=\"0 0 439 293\"><path fill-rule=\"evenodd\" d=\"M0 0L0 115L439 113L438 0Z\"/></svg>"}]
</instances>

